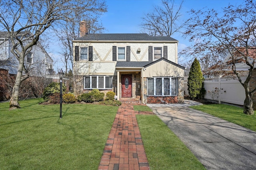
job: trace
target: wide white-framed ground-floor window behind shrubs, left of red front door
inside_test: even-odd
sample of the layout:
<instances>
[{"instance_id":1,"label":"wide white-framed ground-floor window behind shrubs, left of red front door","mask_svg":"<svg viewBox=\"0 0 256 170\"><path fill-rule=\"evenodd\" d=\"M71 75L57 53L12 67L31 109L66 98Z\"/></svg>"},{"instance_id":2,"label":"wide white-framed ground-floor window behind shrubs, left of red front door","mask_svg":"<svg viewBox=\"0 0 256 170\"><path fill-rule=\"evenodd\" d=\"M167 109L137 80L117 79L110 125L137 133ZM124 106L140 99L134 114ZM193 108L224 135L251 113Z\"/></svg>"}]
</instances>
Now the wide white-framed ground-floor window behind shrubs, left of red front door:
<instances>
[{"instance_id":1,"label":"wide white-framed ground-floor window behind shrubs, left of red front door","mask_svg":"<svg viewBox=\"0 0 256 170\"><path fill-rule=\"evenodd\" d=\"M84 89L112 88L112 76L84 76Z\"/></svg>"}]
</instances>

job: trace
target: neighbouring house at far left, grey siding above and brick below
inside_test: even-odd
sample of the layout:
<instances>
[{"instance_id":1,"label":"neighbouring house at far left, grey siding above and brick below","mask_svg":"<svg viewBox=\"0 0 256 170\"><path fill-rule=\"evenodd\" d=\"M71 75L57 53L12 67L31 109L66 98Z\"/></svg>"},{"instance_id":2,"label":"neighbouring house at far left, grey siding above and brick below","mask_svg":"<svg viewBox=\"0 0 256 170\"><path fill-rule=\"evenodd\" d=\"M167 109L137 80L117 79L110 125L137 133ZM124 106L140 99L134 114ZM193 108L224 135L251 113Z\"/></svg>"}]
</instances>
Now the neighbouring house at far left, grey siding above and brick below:
<instances>
[{"instance_id":1,"label":"neighbouring house at far left, grey siding above and brick below","mask_svg":"<svg viewBox=\"0 0 256 170\"><path fill-rule=\"evenodd\" d=\"M0 31L0 101L10 99L12 85L18 72L19 61L11 53L11 48L12 43L8 39L8 33ZM28 70L30 78L46 77L46 75L52 74L52 65L53 60L39 42L25 56L24 67ZM39 82L37 83L39 84ZM25 90L29 88L32 87L24 87Z\"/></svg>"}]
</instances>

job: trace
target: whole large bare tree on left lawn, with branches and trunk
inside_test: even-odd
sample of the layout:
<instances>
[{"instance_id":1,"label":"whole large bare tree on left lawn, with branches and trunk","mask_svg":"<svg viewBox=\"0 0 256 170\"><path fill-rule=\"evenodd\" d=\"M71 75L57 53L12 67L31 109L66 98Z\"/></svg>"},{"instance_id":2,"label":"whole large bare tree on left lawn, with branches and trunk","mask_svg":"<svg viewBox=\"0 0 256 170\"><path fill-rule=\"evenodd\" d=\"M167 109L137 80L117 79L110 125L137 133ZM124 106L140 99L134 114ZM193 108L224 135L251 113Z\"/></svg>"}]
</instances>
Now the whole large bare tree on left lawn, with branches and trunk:
<instances>
[{"instance_id":1,"label":"whole large bare tree on left lawn, with branches and trunk","mask_svg":"<svg viewBox=\"0 0 256 170\"><path fill-rule=\"evenodd\" d=\"M78 14L105 12L104 0L2 0L0 1L0 29L8 31L11 52L19 61L18 72L10 99L10 109L19 108L20 82L29 77L24 57L36 45L40 35L49 27L72 21Z\"/></svg>"}]
</instances>

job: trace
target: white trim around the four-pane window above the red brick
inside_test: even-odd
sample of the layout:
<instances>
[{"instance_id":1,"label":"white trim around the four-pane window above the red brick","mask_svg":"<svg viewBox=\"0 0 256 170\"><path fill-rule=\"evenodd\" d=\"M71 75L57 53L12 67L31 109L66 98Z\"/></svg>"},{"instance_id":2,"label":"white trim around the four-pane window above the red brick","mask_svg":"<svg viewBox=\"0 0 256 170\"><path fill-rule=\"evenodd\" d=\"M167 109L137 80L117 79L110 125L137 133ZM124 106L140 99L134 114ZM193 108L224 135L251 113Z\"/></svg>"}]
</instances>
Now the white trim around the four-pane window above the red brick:
<instances>
[{"instance_id":1,"label":"white trim around the four-pane window above the red brick","mask_svg":"<svg viewBox=\"0 0 256 170\"><path fill-rule=\"evenodd\" d=\"M148 79L154 79L153 95L148 94ZM162 95L156 95L156 79L162 78ZM169 78L169 95L164 95L164 78ZM176 95L172 95L172 79L176 79ZM178 78L177 77L148 77L147 78L147 96L178 96Z\"/></svg>"}]
</instances>

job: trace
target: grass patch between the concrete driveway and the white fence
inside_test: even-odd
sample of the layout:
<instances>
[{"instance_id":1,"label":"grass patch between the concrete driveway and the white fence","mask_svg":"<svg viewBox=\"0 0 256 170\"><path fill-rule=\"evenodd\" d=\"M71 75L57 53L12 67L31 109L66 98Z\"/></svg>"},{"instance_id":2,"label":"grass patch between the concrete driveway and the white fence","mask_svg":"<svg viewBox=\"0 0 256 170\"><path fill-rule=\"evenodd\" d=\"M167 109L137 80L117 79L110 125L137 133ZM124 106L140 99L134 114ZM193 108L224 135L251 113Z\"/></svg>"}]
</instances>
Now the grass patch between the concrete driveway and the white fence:
<instances>
[{"instance_id":1,"label":"grass patch between the concrete driveway and the white fence","mask_svg":"<svg viewBox=\"0 0 256 170\"><path fill-rule=\"evenodd\" d=\"M256 131L256 115L244 114L243 108L225 104L208 104L190 107Z\"/></svg>"}]
</instances>

